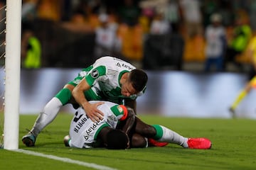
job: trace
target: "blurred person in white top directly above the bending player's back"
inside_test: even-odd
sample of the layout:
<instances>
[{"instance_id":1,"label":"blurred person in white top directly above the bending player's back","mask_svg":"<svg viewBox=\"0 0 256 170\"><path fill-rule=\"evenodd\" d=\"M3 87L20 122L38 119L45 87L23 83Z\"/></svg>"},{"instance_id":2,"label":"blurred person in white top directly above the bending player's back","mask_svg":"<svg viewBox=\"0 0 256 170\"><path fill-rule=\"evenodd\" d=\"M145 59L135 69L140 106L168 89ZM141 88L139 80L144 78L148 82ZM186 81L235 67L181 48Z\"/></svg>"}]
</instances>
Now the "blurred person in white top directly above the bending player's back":
<instances>
[{"instance_id":1,"label":"blurred person in white top directly above the bending player's back","mask_svg":"<svg viewBox=\"0 0 256 170\"><path fill-rule=\"evenodd\" d=\"M122 41L117 37L117 23L110 23L105 13L99 16L100 26L95 30L95 57L120 55Z\"/></svg>"}]
</instances>

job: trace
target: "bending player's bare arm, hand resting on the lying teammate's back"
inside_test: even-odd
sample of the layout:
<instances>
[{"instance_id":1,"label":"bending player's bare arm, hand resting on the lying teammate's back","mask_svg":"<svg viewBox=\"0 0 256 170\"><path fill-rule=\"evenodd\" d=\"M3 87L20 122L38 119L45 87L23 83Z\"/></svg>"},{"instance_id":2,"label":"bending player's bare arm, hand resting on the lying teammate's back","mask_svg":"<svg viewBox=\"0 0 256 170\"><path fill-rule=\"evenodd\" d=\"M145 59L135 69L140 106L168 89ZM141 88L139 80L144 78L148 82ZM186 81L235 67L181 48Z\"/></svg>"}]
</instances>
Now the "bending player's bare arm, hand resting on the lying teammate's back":
<instances>
[{"instance_id":1,"label":"bending player's bare arm, hand resting on the lying teammate's back","mask_svg":"<svg viewBox=\"0 0 256 170\"><path fill-rule=\"evenodd\" d=\"M97 106L101 105L103 102L91 104L87 101L84 91L87 91L90 88L91 86L87 83L86 79L83 78L80 83L73 89L72 95L75 98L75 101L77 101L78 104L85 109L87 116L93 122L96 122L102 120L102 116L104 115L102 111L97 109Z\"/></svg>"}]
</instances>

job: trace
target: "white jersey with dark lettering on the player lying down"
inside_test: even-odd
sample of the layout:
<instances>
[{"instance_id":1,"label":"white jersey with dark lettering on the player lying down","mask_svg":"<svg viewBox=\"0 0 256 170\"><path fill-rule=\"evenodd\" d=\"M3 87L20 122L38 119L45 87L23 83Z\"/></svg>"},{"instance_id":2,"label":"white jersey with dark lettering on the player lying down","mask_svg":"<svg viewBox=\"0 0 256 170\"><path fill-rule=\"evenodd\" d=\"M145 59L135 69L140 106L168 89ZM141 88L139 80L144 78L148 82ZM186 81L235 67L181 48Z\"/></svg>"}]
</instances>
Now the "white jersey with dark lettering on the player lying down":
<instances>
[{"instance_id":1,"label":"white jersey with dark lettering on the player lying down","mask_svg":"<svg viewBox=\"0 0 256 170\"><path fill-rule=\"evenodd\" d=\"M99 101L90 101L90 103L97 102ZM78 111L75 113L74 118L70 123L70 147L92 147L102 128L106 126L116 128L118 121L127 116L127 110L116 103L104 101L104 104L97 108L104 113L104 118L96 123L93 123L92 120L87 117L84 109L78 108Z\"/></svg>"}]
</instances>

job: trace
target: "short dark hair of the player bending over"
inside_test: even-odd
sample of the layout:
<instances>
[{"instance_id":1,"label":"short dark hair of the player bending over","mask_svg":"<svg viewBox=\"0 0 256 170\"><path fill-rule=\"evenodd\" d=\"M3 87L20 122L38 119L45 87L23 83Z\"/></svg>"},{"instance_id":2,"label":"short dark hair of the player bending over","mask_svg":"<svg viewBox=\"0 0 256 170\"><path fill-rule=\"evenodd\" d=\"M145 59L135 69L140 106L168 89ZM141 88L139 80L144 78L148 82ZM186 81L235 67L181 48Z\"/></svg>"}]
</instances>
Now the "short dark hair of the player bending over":
<instances>
[{"instance_id":1,"label":"short dark hair of the player bending over","mask_svg":"<svg viewBox=\"0 0 256 170\"><path fill-rule=\"evenodd\" d=\"M129 81L136 91L143 91L146 87L148 77L142 69L133 69L129 73Z\"/></svg>"}]
</instances>

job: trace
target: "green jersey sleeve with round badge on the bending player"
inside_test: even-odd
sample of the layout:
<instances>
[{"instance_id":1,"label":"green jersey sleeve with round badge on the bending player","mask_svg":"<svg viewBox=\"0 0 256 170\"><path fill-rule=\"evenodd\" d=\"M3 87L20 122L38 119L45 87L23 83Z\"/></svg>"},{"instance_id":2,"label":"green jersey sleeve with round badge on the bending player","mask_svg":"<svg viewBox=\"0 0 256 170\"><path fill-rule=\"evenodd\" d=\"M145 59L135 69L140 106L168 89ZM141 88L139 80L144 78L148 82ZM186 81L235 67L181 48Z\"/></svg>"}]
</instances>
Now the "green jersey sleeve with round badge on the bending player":
<instances>
[{"instance_id":1,"label":"green jersey sleeve with round badge on the bending player","mask_svg":"<svg viewBox=\"0 0 256 170\"><path fill-rule=\"evenodd\" d=\"M92 69L85 77L87 83L92 86L97 79L104 79L107 69L105 66L98 66Z\"/></svg>"}]
</instances>

